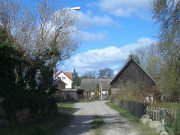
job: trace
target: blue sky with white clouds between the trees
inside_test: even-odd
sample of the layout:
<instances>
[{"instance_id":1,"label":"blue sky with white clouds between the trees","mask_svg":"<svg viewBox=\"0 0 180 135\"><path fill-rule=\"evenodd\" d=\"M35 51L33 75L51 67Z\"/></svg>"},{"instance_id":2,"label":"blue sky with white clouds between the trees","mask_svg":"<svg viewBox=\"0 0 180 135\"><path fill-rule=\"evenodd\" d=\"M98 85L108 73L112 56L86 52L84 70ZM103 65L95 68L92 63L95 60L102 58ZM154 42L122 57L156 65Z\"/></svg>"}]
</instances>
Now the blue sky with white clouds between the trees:
<instances>
[{"instance_id":1,"label":"blue sky with white clouds between the trees","mask_svg":"<svg viewBox=\"0 0 180 135\"><path fill-rule=\"evenodd\" d=\"M28 2L31 2L29 0ZM150 0L60 0L62 6L76 11L80 47L58 66L58 71L79 75L111 68L116 74L128 55L157 40Z\"/></svg>"}]
</instances>

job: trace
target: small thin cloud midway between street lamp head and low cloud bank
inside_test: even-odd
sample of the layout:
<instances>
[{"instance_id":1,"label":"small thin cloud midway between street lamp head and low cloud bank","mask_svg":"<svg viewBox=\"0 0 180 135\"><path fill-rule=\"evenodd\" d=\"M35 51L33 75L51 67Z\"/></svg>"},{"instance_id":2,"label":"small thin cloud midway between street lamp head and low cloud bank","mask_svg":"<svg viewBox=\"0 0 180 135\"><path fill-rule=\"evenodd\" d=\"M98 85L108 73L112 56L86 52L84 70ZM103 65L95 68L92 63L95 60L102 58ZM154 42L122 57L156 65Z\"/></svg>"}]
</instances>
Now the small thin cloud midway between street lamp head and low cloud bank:
<instances>
[{"instance_id":1,"label":"small thin cloud midway between street lamp head and low cloud bank","mask_svg":"<svg viewBox=\"0 0 180 135\"><path fill-rule=\"evenodd\" d=\"M75 38L81 42L94 42L106 40L107 32L91 33L79 31Z\"/></svg>"}]
</instances>

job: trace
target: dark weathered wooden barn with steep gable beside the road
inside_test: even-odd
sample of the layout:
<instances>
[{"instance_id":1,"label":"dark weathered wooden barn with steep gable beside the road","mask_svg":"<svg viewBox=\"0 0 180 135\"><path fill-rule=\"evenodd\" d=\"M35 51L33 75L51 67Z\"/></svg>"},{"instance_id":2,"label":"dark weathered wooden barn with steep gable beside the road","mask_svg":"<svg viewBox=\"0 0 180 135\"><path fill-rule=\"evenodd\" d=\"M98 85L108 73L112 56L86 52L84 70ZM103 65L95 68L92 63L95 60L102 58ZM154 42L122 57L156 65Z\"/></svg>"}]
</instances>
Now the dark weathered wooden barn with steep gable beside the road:
<instances>
[{"instance_id":1,"label":"dark weathered wooden barn with steep gable beside the road","mask_svg":"<svg viewBox=\"0 0 180 135\"><path fill-rule=\"evenodd\" d=\"M123 86L140 85L148 93L147 100L153 100L154 80L142 69L142 67L131 57L118 74L110 81L111 93L120 92ZM138 87L140 88L140 87ZM133 88L132 88L133 89Z\"/></svg>"}]
</instances>

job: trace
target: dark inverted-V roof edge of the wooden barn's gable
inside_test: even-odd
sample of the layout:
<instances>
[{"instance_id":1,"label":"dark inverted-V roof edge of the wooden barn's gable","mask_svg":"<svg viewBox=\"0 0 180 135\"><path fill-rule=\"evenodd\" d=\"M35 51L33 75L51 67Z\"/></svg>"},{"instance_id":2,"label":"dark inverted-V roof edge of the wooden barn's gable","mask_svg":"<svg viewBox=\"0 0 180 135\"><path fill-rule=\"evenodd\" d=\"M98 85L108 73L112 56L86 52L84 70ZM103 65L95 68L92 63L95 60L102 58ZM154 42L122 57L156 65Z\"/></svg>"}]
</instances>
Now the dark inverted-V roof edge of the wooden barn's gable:
<instances>
[{"instance_id":1,"label":"dark inverted-V roof edge of the wooden barn's gable","mask_svg":"<svg viewBox=\"0 0 180 135\"><path fill-rule=\"evenodd\" d=\"M124 72L124 70L130 65L131 62L134 62L137 67L155 84L155 81L148 75L147 72L144 71L144 69L131 57L128 62L122 67L122 69L118 72L118 74L109 82L110 85L112 85L118 77Z\"/></svg>"}]
</instances>

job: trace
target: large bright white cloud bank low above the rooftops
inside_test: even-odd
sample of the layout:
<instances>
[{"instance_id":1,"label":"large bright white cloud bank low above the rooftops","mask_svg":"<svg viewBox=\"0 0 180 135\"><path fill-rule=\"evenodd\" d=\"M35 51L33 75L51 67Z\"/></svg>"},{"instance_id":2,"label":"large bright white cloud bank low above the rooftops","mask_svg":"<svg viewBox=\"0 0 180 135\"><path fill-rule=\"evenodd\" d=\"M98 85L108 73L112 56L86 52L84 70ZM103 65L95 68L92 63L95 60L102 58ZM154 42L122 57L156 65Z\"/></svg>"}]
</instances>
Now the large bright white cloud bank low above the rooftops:
<instances>
[{"instance_id":1,"label":"large bright white cloud bank low above the rooftops","mask_svg":"<svg viewBox=\"0 0 180 135\"><path fill-rule=\"evenodd\" d=\"M153 42L155 41L150 38L140 38L136 43L128 44L121 48L110 46L102 49L88 50L66 61L64 70L68 70L65 67L71 70L76 68L78 73L83 74L86 71L110 67L117 73L130 52L139 47L150 45Z\"/></svg>"}]
</instances>

